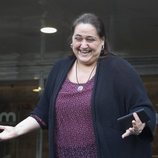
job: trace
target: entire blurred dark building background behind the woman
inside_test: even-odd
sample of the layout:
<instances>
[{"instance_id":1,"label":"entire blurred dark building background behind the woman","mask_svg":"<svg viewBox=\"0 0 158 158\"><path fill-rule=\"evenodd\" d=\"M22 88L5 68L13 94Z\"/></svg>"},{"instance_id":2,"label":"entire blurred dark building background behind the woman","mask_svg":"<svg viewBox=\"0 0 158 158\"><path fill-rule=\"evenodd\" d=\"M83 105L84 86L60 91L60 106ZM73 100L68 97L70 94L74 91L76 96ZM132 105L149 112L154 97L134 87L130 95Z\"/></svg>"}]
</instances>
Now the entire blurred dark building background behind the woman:
<instances>
[{"instance_id":1,"label":"entire blurred dark building background behind the woman","mask_svg":"<svg viewBox=\"0 0 158 158\"><path fill-rule=\"evenodd\" d=\"M157 0L5 0L0 5L0 123L29 115L54 62L71 53L72 21L92 12L105 23L110 49L139 72L158 111ZM42 27L57 32L42 33ZM0 158L48 156L47 132L0 143ZM158 157L158 131L152 143Z\"/></svg>"}]
</instances>

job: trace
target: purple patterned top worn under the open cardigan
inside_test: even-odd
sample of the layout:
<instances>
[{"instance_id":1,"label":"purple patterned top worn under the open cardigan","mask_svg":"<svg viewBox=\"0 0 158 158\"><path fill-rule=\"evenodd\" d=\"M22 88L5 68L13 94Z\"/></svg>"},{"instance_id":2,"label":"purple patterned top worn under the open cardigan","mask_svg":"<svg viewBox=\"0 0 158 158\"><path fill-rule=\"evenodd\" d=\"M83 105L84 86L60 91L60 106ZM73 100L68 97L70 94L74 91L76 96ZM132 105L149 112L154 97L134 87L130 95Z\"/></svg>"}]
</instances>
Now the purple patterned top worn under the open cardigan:
<instances>
[{"instance_id":1,"label":"purple patterned top worn under the open cardigan","mask_svg":"<svg viewBox=\"0 0 158 158\"><path fill-rule=\"evenodd\" d=\"M91 113L94 77L83 85L65 80L56 102L56 157L96 158Z\"/></svg>"}]
</instances>

